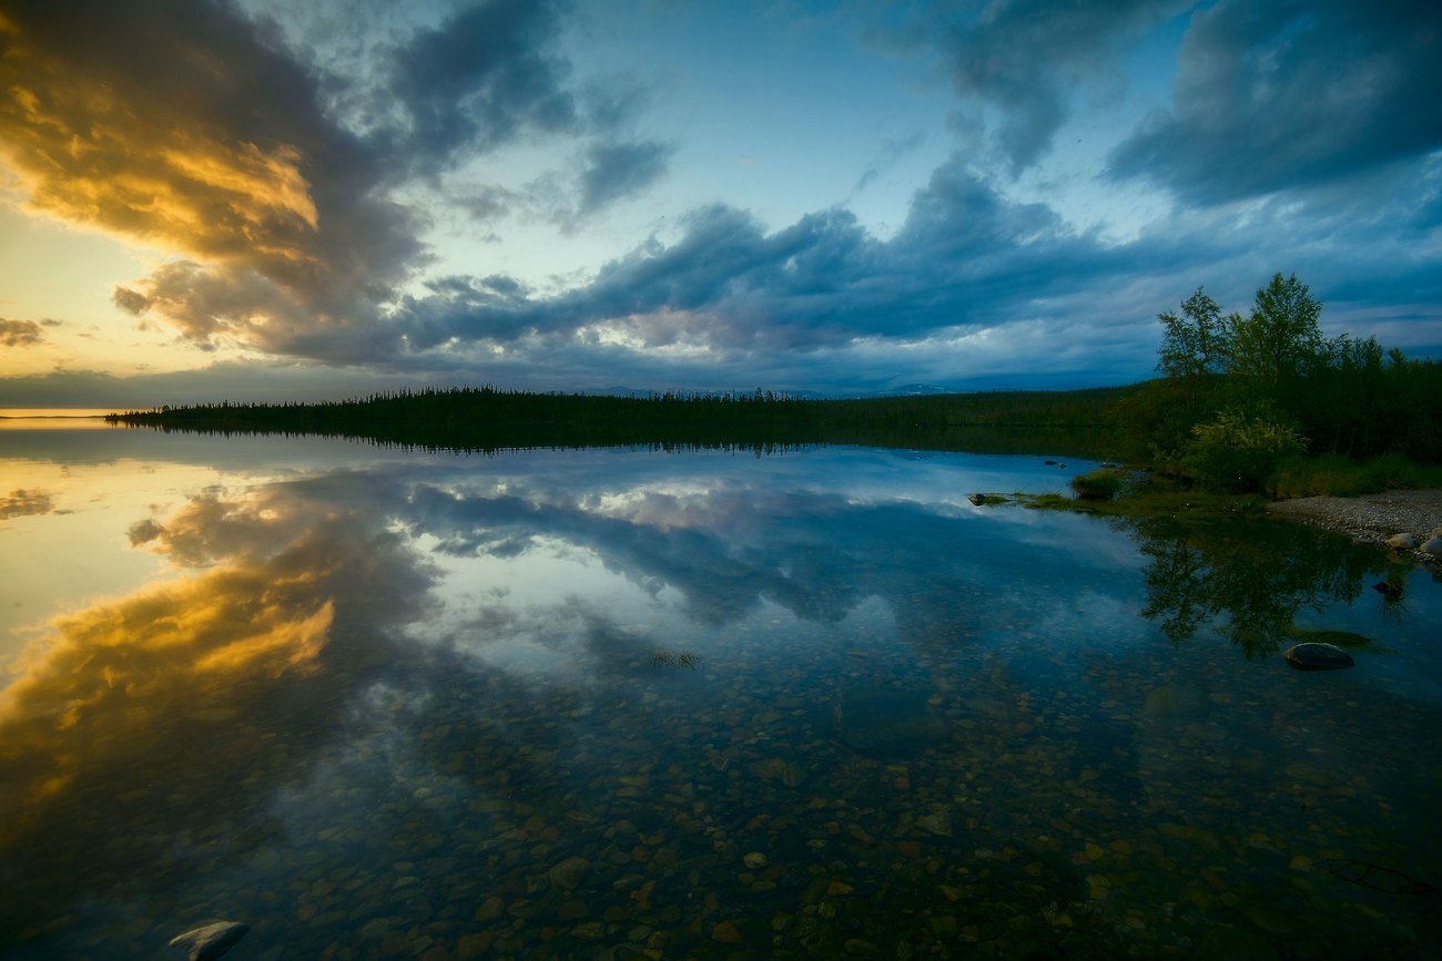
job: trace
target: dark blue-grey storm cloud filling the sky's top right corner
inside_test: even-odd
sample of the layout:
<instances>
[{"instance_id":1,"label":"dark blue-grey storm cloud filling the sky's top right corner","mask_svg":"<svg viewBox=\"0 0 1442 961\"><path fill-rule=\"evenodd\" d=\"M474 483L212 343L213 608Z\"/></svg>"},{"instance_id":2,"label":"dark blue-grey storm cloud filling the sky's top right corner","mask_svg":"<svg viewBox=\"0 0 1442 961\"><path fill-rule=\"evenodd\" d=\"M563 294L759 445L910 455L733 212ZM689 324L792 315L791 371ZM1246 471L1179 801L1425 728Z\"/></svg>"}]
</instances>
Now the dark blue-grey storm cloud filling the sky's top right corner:
<instances>
[{"instance_id":1,"label":"dark blue-grey storm cloud filling the sky's top right corner","mask_svg":"<svg viewBox=\"0 0 1442 961\"><path fill-rule=\"evenodd\" d=\"M1223 1L1193 16L1171 109L1110 157L1193 203L1348 177L1442 147L1442 6Z\"/></svg>"}]
</instances>

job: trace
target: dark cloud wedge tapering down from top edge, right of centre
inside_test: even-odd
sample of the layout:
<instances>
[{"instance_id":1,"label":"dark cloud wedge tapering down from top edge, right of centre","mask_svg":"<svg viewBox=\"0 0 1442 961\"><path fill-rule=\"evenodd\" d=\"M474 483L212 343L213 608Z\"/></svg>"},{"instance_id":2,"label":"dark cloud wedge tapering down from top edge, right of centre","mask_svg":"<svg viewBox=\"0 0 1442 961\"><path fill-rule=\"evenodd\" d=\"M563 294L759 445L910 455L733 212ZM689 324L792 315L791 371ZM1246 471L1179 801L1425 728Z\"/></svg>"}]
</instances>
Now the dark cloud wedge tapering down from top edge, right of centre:
<instances>
[{"instance_id":1,"label":"dark cloud wedge tapering down from top edge, right of centre","mask_svg":"<svg viewBox=\"0 0 1442 961\"><path fill-rule=\"evenodd\" d=\"M1076 88L1118 84L1119 53L1184 6L1178 0L1012 0L965 17L952 4L927 6L907 27L904 42L937 49L968 102L969 124L983 124L976 115L981 108L996 111L996 146L1011 171L1019 173L1051 147L1071 112Z\"/></svg>"}]
</instances>

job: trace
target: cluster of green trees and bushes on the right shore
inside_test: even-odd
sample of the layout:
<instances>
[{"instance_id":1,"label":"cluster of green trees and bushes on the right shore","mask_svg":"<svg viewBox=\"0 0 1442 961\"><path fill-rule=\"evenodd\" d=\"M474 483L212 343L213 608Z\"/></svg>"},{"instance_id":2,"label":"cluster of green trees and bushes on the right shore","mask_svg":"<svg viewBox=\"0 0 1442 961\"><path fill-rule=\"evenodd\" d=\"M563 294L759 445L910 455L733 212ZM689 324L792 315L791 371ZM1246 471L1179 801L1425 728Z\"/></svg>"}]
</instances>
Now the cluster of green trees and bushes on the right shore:
<instances>
[{"instance_id":1,"label":"cluster of green trees and bushes on the right shore","mask_svg":"<svg viewBox=\"0 0 1442 961\"><path fill-rule=\"evenodd\" d=\"M1296 274L1275 274L1246 314L1200 287L1158 314L1162 379L1126 409L1154 460L1230 490L1266 487L1298 454L1442 462L1442 366L1325 337L1321 313Z\"/></svg>"}]
</instances>

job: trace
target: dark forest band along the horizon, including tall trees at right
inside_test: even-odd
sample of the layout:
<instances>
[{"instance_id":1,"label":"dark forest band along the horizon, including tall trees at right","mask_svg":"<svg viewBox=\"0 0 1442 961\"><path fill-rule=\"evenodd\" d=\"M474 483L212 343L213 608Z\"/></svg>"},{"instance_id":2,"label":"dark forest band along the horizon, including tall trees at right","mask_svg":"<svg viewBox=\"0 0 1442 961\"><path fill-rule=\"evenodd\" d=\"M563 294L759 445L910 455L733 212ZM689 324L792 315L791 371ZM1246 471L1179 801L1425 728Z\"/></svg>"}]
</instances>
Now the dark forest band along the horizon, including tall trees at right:
<instances>
[{"instance_id":1,"label":"dark forest band along the horizon, including tall trees at right","mask_svg":"<svg viewBox=\"0 0 1442 961\"><path fill-rule=\"evenodd\" d=\"M1146 462L1226 491L1308 493L1298 464L1442 464L1442 365L1374 337L1324 337L1322 304L1272 277L1223 314L1203 288L1158 314L1161 376L1122 388L797 399L757 389L649 398L495 386L324 403L202 403L110 419L159 429L319 434L425 450L870 444ZM1306 471L1301 471L1305 474ZM1373 471L1377 473L1377 471ZM1315 474L1315 470L1312 471ZM1389 478L1381 477L1379 483Z\"/></svg>"}]
</instances>

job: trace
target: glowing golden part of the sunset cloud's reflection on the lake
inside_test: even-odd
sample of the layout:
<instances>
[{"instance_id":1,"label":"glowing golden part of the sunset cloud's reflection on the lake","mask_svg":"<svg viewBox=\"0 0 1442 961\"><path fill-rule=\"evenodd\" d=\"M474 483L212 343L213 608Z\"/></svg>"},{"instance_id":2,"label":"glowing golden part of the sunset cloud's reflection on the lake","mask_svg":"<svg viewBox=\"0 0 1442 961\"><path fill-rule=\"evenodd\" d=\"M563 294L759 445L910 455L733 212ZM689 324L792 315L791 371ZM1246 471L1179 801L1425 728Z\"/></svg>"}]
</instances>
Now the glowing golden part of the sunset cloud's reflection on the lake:
<instances>
[{"instance_id":1,"label":"glowing golden part of the sunset cloud's reflection on the lake","mask_svg":"<svg viewBox=\"0 0 1442 961\"><path fill-rule=\"evenodd\" d=\"M232 765L267 764L260 730L324 730L345 697L317 689L353 683L348 664L385 630L365 608L404 618L424 591L389 535L287 486L195 497L150 522L144 542L203 569L55 618L0 692L6 846L101 781L144 785L131 769L190 756L196 739L205 748L190 777L219 782ZM405 596L389 599L389 588ZM342 611L366 628L335 651ZM212 752L226 758L215 771Z\"/></svg>"}]
</instances>

